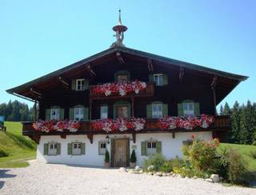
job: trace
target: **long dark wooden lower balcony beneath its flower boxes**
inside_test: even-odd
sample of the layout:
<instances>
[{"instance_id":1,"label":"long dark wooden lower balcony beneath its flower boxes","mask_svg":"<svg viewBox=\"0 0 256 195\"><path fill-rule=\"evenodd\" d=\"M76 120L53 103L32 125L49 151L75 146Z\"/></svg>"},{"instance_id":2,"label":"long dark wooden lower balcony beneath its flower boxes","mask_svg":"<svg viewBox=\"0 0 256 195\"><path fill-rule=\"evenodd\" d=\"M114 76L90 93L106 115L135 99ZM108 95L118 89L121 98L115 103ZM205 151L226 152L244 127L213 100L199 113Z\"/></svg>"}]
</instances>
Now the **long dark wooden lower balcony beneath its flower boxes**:
<instances>
[{"instance_id":1,"label":"long dark wooden lower balcony beneath its flower boxes","mask_svg":"<svg viewBox=\"0 0 256 195\"><path fill-rule=\"evenodd\" d=\"M231 128L231 120L230 116L215 116L214 117L214 123L211 124L208 128L203 129L203 128L195 128L195 129L170 129L170 130L163 130L159 129L158 127L158 119L146 119L146 124L144 129L140 131L135 131L135 130L127 130L125 132L121 131L114 131L114 132L109 132L111 133L177 133L177 132L194 132L194 131L214 131L216 132L226 132L228 129ZM81 127L78 129L77 132L38 132L33 128L33 121L26 121L22 122L23 124L23 129L22 133L23 135L29 136L31 139L34 141L38 142L40 139L41 135L60 135L62 138L66 138L66 135L72 135L72 134L86 134L89 139L92 139L94 134L107 134L106 131L104 130L95 130L93 129L92 126L92 121L81 121Z\"/></svg>"}]
</instances>

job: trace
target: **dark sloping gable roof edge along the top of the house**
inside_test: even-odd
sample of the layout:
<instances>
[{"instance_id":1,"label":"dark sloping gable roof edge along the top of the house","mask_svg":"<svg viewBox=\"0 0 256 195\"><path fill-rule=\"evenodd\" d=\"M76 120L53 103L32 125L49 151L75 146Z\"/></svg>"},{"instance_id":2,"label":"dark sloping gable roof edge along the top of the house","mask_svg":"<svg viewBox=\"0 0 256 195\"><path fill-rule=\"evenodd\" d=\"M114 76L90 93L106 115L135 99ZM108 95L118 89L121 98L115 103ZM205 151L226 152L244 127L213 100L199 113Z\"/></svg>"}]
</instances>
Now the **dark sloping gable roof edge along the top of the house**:
<instances>
[{"instance_id":1,"label":"dark sloping gable roof edge along the top of the house","mask_svg":"<svg viewBox=\"0 0 256 195\"><path fill-rule=\"evenodd\" d=\"M103 50L102 52L100 52L98 54L94 54L93 56L90 56L89 58L85 58L79 62L75 62L74 64L71 64L70 66L66 66L60 70L56 70L50 74L46 74L45 76L34 79L31 82L27 82L21 86L14 87L10 90L6 90L6 92L8 92L10 94L23 95L23 94L21 94L22 90L26 90L26 89L30 90L30 88L32 88L34 85L36 85L40 82L46 82L50 78L58 77L59 75L69 72L70 70L74 70L76 68L79 68L80 66L84 66L85 64L94 62L98 58L104 58L107 55L115 53L117 51L122 52L124 54L130 54L135 57L137 56L137 57L141 57L141 58L150 58L151 60L154 60L157 62L164 62L164 63L170 64L173 66L181 66L181 67L184 67L184 68L187 68L190 70L198 70L198 71L204 72L206 74L213 74L213 75L217 75L217 76L223 77L223 78L230 78L237 82L242 82L242 81L246 80L246 78L248 78L246 76L242 76L242 75L238 75L238 74L231 74L231 73L227 73L227 72L224 72L221 70L214 70L214 69L207 68L205 66L199 66L199 65L192 64L189 62L182 62L182 61L174 60L172 58L166 58L166 57L162 57L162 56L159 56L156 54L150 54L150 53L143 52L140 50L134 50L134 49L130 49L130 48L123 47L123 46L114 46L108 50Z\"/></svg>"}]
</instances>

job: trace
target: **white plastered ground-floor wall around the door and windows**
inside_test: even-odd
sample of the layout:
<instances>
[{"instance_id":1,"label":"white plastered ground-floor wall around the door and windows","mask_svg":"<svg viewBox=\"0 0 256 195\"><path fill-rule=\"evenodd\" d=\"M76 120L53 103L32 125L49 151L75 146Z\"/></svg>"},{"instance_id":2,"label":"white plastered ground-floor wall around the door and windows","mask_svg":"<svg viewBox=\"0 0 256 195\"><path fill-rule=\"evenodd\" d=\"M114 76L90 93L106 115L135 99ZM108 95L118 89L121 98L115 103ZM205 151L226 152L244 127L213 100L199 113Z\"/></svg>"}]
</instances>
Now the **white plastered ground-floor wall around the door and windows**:
<instances>
[{"instance_id":1,"label":"white plastered ground-floor wall around the door and windows","mask_svg":"<svg viewBox=\"0 0 256 195\"><path fill-rule=\"evenodd\" d=\"M200 137L204 140L210 140L212 138L212 132L188 132L188 133L175 133L175 138L172 137L172 133L138 133L136 134L136 143L132 140L131 134L111 134L112 138L130 138L130 153L134 148L137 157L137 165L142 166L142 162L146 157L141 156L141 141L162 141L162 154L170 159L178 155L182 157L182 141L190 140L192 134ZM44 144L56 141L61 143L61 154L58 156L46 156L43 155ZM71 142L84 142L86 143L86 154L79 156L72 156L67 154L67 145ZM98 141L106 141L105 135L94 135L93 144L90 144L86 135L68 135L66 139L62 139L60 136L42 136L38 144L37 159L38 161L48 163L64 163L73 165L92 165L103 166L104 155L98 154ZM110 141L111 143L111 141ZM111 144L106 145L106 149L111 153Z\"/></svg>"}]
</instances>

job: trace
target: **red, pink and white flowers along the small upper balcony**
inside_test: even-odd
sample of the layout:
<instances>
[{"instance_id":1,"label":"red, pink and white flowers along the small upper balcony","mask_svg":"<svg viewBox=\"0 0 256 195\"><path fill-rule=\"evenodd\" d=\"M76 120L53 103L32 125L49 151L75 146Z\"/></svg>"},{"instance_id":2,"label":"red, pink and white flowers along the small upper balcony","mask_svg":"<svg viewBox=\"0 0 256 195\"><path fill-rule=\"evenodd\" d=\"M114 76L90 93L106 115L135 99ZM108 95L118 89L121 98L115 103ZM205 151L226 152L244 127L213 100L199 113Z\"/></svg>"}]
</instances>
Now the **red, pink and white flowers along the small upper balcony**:
<instances>
[{"instance_id":1,"label":"red, pink and white flowers along the small upper balcony","mask_svg":"<svg viewBox=\"0 0 256 195\"><path fill-rule=\"evenodd\" d=\"M124 96L131 92L139 94L139 91L145 88L146 82L113 82L94 86L92 91L94 94L105 94L106 96L110 96L111 94L120 94L121 96Z\"/></svg>"}]
</instances>

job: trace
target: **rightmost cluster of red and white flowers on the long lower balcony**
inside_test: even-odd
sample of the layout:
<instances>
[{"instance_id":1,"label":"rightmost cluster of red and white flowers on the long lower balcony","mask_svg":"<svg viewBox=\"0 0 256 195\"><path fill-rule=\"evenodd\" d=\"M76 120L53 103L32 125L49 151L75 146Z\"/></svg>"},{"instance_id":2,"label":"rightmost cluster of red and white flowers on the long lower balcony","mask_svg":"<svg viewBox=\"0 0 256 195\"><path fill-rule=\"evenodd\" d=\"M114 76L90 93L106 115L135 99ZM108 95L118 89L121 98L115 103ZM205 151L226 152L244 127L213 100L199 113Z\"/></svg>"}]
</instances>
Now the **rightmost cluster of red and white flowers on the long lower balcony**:
<instances>
[{"instance_id":1,"label":"rightmost cluster of red and white flowers on the long lower balcony","mask_svg":"<svg viewBox=\"0 0 256 195\"><path fill-rule=\"evenodd\" d=\"M196 127L208 128L214 122L214 117L202 114L199 117L168 117L158 120L158 127L161 129L194 129Z\"/></svg>"}]
</instances>

